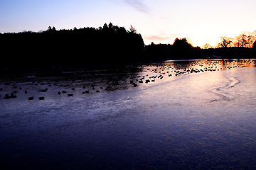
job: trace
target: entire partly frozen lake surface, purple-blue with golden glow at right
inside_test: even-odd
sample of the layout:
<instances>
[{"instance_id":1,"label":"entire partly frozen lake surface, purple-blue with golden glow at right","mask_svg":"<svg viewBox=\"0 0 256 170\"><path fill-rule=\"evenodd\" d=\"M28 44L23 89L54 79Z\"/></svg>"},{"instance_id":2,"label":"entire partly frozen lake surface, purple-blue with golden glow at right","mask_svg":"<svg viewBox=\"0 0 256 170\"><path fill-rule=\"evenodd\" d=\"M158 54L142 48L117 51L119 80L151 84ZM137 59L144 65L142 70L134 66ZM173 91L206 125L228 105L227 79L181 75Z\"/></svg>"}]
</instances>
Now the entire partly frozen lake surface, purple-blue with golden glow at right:
<instances>
[{"instance_id":1,"label":"entire partly frozen lake surface, purple-blue with golden glow at right","mask_svg":"<svg viewBox=\"0 0 256 170\"><path fill-rule=\"evenodd\" d=\"M255 84L254 60L5 77L0 165L256 169Z\"/></svg>"}]
</instances>

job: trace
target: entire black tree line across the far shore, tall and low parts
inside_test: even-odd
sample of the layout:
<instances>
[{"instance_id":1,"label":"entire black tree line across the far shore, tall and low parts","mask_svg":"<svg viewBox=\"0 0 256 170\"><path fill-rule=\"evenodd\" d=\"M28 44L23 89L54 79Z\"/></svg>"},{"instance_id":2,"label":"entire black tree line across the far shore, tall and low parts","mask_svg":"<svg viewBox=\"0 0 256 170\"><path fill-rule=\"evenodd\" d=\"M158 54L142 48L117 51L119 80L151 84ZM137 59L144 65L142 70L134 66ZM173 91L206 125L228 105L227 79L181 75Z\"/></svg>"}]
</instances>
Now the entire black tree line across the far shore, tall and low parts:
<instances>
[{"instance_id":1,"label":"entire black tree line across the far shore, tall and low parts","mask_svg":"<svg viewBox=\"0 0 256 170\"><path fill-rule=\"evenodd\" d=\"M41 32L0 33L1 68L94 67L180 59L255 58L256 41L251 35L223 37L218 47L193 47L186 38L172 45L144 45L142 35L131 26L104 24L100 28L48 27ZM207 45L206 45L207 46Z\"/></svg>"}]
</instances>

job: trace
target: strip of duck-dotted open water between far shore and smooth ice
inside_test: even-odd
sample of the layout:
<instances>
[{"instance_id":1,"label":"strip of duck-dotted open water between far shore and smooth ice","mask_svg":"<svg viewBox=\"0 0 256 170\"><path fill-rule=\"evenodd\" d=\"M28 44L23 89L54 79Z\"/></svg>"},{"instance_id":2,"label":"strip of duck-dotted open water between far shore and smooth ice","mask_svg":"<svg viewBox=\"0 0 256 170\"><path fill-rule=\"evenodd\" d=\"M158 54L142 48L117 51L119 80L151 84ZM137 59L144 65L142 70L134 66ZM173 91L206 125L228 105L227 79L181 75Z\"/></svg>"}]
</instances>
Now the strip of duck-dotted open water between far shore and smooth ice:
<instances>
[{"instance_id":1,"label":"strip of duck-dotted open water between far shore and smooth ice","mask_svg":"<svg viewBox=\"0 0 256 170\"><path fill-rule=\"evenodd\" d=\"M30 91L32 94L37 92L36 96L38 96L38 91L46 91L46 88L48 89L47 92L51 92L44 94L48 98L52 98L56 94L63 96L61 91L66 91L70 96L72 94L73 96L81 96L82 94L95 94L134 87L144 88L152 84L156 86L183 75L220 72L242 67L255 67L255 60L180 60L112 69L85 70L80 68L61 71L53 69L48 72L26 74L26 77L20 76L16 79L4 77L1 80L0 88L5 89L9 93L7 95L10 96L12 93L17 98L28 96L24 95L24 91ZM35 85L32 89L31 84ZM0 95L5 96L6 94L2 90Z\"/></svg>"}]
</instances>

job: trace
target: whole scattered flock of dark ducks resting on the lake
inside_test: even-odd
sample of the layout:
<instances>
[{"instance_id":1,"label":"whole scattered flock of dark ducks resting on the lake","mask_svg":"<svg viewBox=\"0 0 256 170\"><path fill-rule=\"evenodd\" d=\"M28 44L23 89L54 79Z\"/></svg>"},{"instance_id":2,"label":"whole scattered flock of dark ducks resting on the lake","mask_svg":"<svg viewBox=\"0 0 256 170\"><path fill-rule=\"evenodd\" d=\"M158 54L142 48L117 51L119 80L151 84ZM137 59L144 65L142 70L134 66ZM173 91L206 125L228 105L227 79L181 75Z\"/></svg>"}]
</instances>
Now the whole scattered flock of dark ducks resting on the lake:
<instances>
[{"instance_id":1,"label":"whole scattered flock of dark ducks resting on the lake","mask_svg":"<svg viewBox=\"0 0 256 170\"><path fill-rule=\"evenodd\" d=\"M132 87L138 87L140 84L149 84L151 82L156 82L161 79L164 79L165 77L178 77L181 74L193 74L193 73L200 73L200 72L218 72L223 69L233 69L237 67L246 67L247 65L254 64L255 62L252 60L240 60L238 61L233 61L233 62L225 62L225 61L205 61L205 62L191 62L188 64L178 64L175 62L166 62L162 64L148 64L142 66L143 72L141 74L129 74L128 77L126 77L125 82L129 82L127 84L130 84ZM158 80L159 79L159 80ZM55 94L58 96L68 96L68 97L73 97L75 95L74 91L76 90L74 87L70 89L63 89L64 87L67 88L69 85L61 85L61 84L51 84L51 83L46 83L43 81L32 81L31 84L38 86L38 92L40 92L42 95L38 97L39 100L44 100L45 97L43 96L43 93L47 93L49 89L52 86L60 86L62 87L62 90L60 91L55 91ZM5 86L11 86L10 83L5 83ZM40 87L39 87L40 86ZM43 86L43 88L42 88ZM47 86L47 87L46 87ZM12 84L11 87L12 91L10 94L4 94L4 99L11 99L11 98L17 98L18 93L23 93L25 95L28 95L28 89L23 88L23 86L18 86L16 84ZM103 86L86 86L83 84L82 88L78 88L80 91L80 94L90 94L90 93L100 93L102 91L110 91L108 87L103 87ZM90 89L90 90L89 90ZM4 88L0 88L1 91L6 91ZM69 91L69 93L68 93ZM71 91L71 92L70 92ZM0 94L1 97L1 94ZM28 100L34 100L34 96L28 96Z\"/></svg>"}]
</instances>

